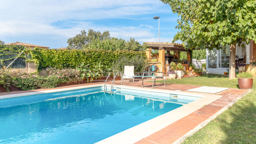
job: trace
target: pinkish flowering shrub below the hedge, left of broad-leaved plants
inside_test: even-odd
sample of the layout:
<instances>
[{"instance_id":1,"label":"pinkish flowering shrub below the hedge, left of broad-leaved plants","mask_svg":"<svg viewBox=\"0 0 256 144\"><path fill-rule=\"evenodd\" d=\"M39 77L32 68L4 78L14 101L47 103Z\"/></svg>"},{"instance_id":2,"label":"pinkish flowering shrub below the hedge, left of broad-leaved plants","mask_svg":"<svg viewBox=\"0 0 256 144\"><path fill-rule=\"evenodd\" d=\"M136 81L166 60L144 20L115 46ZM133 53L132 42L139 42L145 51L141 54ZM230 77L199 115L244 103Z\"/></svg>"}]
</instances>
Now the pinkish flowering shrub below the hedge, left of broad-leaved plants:
<instances>
[{"instance_id":1,"label":"pinkish flowering shrub below the hedge, left of broad-leaved plants","mask_svg":"<svg viewBox=\"0 0 256 144\"><path fill-rule=\"evenodd\" d=\"M83 80L80 72L75 69L65 68L59 70L57 68L48 67L46 70L47 72L49 72L49 76L55 75L56 77L61 79L62 82L81 82Z\"/></svg>"}]
</instances>

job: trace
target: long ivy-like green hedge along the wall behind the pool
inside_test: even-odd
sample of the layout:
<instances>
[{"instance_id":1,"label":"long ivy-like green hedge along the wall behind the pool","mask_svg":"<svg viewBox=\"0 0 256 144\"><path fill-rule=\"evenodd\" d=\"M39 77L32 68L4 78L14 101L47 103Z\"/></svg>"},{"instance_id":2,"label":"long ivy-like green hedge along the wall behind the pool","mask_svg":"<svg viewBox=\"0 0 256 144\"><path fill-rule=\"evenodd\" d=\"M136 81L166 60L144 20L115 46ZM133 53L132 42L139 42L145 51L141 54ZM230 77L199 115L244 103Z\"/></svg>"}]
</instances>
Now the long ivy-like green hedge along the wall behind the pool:
<instances>
[{"instance_id":1,"label":"long ivy-like green hedge along the wall behind the pool","mask_svg":"<svg viewBox=\"0 0 256 144\"><path fill-rule=\"evenodd\" d=\"M38 70L46 67L75 68L82 62L85 64L101 63L111 68L112 62L120 57L146 57L145 52L139 51L110 51L110 50L54 50L40 49L27 50L31 54L31 60L37 63Z\"/></svg>"}]
</instances>

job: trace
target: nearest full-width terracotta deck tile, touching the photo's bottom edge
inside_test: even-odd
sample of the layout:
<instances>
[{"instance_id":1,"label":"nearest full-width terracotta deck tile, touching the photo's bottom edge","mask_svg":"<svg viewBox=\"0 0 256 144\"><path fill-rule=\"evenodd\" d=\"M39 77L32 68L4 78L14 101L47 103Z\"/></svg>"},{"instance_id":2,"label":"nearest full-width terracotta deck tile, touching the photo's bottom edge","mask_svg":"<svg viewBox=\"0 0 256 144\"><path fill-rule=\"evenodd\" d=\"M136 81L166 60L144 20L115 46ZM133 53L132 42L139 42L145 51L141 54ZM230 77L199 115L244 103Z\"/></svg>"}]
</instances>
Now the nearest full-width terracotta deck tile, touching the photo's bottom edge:
<instances>
[{"instance_id":1,"label":"nearest full-width terracotta deck tile, touching the photo's bottom edge","mask_svg":"<svg viewBox=\"0 0 256 144\"><path fill-rule=\"evenodd\" d=\"M148 139L152 142L156 142L158 144L171 144L179 138L180 137L174 136L172 134L167 134L165 132L158 131L150 135L149 137L146 137L145 139Z\"/></svg>"}]
</instances>

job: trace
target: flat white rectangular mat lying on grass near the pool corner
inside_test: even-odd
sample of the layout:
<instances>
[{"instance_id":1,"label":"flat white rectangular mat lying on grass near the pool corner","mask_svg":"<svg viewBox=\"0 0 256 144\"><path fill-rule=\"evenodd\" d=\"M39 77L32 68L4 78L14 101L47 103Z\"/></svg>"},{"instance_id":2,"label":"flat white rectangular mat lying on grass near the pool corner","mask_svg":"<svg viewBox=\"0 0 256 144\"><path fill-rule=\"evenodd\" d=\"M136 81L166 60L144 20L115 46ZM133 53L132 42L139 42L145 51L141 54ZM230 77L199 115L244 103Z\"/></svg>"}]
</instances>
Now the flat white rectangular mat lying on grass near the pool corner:
<instances>
[{"instance_id":1,"label":"flat white rectangular mat lying on grass near the pool corner","mask_svg":"<svg viewBox=\"0 0 256 144\"><path fill-rule=\"evenodd\" d=\"M216 94L218 92L222 92L226 89L229 88L225 88L225 87L198 87L198 88L194 88L194 89L189 89L186 91L190 91L190 92L205 92L205 93L211 93L211 94Z\"/></svg>"}]
</instances>

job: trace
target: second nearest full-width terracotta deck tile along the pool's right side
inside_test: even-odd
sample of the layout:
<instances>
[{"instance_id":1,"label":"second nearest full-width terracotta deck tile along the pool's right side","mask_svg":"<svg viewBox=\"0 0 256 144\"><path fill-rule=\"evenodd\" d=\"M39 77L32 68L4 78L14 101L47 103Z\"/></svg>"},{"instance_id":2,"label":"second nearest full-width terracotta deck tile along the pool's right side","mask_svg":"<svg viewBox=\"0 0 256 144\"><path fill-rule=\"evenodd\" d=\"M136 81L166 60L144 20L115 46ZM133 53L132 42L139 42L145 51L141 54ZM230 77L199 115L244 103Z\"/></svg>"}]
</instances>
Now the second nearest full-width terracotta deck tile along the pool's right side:
<instances>
[{"instance_id":1,"label":"second nearest full-width terracotta deck tile along the pool's right side","mask_svg":"<svg viewBox=\"0 0 256 144\"><path fill-rule=\"evenodd\" d=\"M165 132L167 134L172 134L178 137L182 137L184 134L188 133L191 129L179 127L174 124L170 124L169 126L161 129L160 131Z\"/></svg>"}]
</instances>

